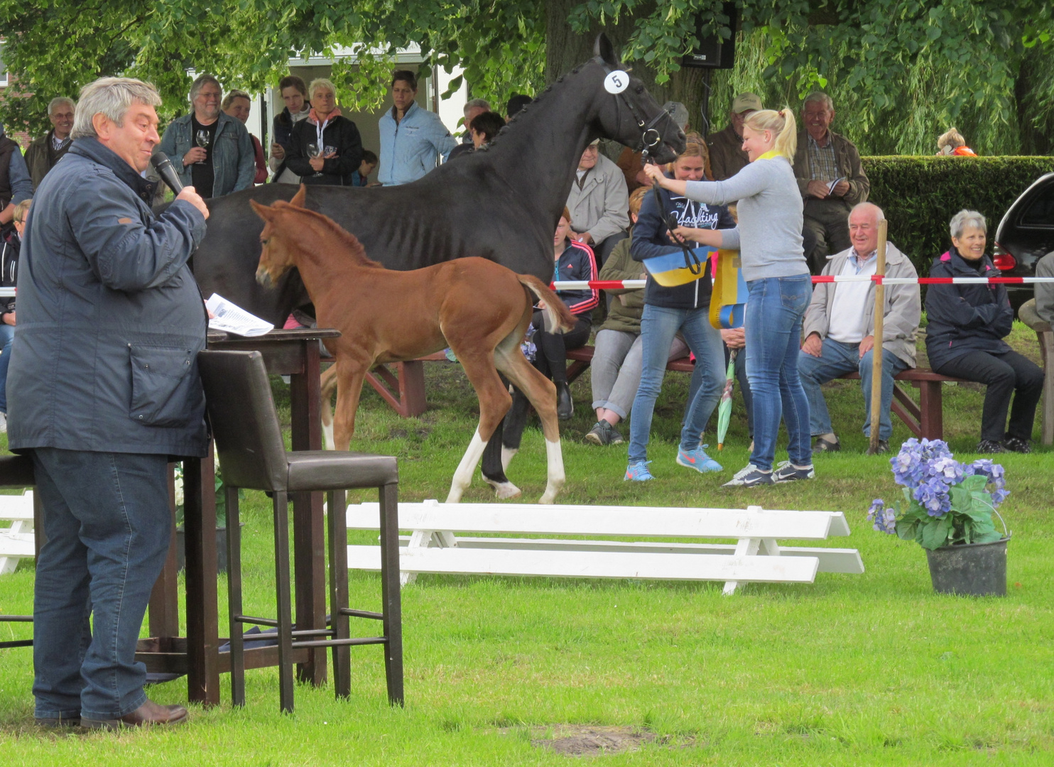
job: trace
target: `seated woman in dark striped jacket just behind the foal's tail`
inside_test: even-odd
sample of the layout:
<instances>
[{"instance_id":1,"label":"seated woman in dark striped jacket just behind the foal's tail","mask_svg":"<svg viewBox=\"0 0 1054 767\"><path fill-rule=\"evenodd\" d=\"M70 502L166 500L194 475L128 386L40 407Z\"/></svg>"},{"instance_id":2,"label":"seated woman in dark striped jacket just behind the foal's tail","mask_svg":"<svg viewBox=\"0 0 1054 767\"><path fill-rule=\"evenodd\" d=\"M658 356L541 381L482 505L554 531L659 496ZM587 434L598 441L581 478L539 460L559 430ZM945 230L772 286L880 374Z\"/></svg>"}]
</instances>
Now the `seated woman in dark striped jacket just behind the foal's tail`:
<instances>
[{"instance_id":1,"label":"seated woman in dark striped jacket just behind the foal's tail","mask_svg":"<svg viewBox=\"0 0 1054 767\"><path fill-rule=\"evenodd\" d=\"M571 239L571 214L564 208L552 237L552 281L596 280L597 260L589 245ZM534 367L557 385L557 416L567 420L574 413L571 390L567 385L567 350L579 349L592 332L592 310L600 300L600 291L592 288L557 291L557 295L574 315L574 329L568 333L548 333L542 312L534 312Z\"/></svg>"}]
</instances>

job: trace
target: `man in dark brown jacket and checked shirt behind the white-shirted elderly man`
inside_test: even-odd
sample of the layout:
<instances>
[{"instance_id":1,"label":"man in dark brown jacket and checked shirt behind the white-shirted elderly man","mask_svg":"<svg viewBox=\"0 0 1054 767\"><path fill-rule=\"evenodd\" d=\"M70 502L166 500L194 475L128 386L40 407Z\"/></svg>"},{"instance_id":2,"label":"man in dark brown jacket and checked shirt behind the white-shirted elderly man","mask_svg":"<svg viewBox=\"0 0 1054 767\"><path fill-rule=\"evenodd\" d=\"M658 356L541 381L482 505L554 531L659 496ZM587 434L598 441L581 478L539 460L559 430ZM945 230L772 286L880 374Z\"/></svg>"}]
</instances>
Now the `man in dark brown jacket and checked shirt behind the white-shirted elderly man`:
<instances>
[{"instance_id":1,"label":"man in dark brown jacket and checked shirt behind the white-shirted elderly man","mask_svg":"<svg viewBox=\"0 0 1054 767\"><path fill-rule=\"evenodd\" d=\"M813 274L819 274L828 254L850 247L845 216L853 205L867 201L871 181L857 148L831 130L835 105L827 94L817 91L806 96L801 117L794 175L805 200L805 229L816 235L816 247L805 252L805 258Z\"/></svg>"}]
</instances>

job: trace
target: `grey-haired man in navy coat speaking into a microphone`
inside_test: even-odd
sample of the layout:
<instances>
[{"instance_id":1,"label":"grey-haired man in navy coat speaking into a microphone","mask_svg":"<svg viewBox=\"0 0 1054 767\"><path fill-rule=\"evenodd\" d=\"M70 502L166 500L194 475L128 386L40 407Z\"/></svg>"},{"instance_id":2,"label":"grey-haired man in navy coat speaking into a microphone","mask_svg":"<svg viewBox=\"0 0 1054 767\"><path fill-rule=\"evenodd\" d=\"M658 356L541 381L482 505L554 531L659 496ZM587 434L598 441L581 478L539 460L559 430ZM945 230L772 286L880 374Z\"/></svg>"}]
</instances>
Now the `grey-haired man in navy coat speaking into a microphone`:
<instances>
[{"instance_id":1,"label":"grey-haired man in navy coat speaking into a microphone","mask_svg":"<svg viewBox=\"0 0 1054 767\"><path fill-rule=\"evenodd\" d=\"M43 504L33 693L44 726L187 720L147 697L135 661L172 535L169 456L208 447L208 318L187 260L209 211L192 186L150 209L141 174L160 103L139 80L85 85L73 145L26 221L7 438L32 454Z\"/></svg>"}]
</instances>

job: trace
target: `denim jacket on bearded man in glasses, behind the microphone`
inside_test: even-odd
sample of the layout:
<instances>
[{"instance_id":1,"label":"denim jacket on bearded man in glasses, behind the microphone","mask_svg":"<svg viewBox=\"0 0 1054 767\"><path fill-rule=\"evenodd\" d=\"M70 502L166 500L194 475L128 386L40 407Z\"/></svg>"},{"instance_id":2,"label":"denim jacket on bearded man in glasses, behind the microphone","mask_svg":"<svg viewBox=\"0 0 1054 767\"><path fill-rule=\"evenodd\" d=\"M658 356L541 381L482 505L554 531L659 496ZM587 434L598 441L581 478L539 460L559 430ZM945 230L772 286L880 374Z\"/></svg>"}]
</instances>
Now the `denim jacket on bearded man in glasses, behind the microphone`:
<instances>
[{"instance_id":1,"label":"denim jacket on bearded man in glasses, behind the microphone","mask_svg":"<svg viewBox=\"0 0 1054 767\"><path fill-rule=\"evenodd\" d=\"M190 186L191 166L183 165L183 155L195 146L191 135L191 115L173 120L164 130L161 143L157 145L172 160L179 174L179 180L184 186ZM222 197L232 192L240 192L253 185L256 177L256 151L249 131L240 121L219 113L219 124L216 125L216 145L212 148L212 171L215 178L212 182L212 196Z\"/></svg>"}]
</instances>

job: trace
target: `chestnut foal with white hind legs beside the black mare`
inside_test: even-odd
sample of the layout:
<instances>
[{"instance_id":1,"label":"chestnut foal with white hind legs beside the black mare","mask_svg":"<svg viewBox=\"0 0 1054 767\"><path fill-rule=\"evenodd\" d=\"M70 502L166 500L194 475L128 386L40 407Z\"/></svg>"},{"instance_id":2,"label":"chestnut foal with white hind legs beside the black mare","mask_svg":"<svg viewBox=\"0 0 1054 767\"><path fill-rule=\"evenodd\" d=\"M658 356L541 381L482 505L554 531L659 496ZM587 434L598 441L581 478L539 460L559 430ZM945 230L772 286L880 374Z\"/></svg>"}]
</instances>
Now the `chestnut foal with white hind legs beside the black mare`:
<instances>
[{"instance_id":1,"label":"chestnut foal with white hind legs beside the black mare","mask_svg":"<svg viewBox=\"0 0 1054 767\"><path fill-rule=\"evenodd\" d=\"M564 484L557 390L527 361L520 343L530 324L534 298L544 303L552 327L574 326L560 298L536 277L515 274L485 258L457 258L409 272L385 269L368 259L362 243L332 219L304 208L305 196L301 184L290 202L278 200L268 206L251 200L265 222L256 279L276 284L282 273L296 267L315 306L318 327L341 333L326 340L336 358L338 384L333 446L348 449L363 380L371 368L449 346L480 398L480 425L454 472L447 503L461 500L487 440L511 406L497 375L501 371L542 419L548 481L540 503L551 504ZM511 484L491 484L500 497L520 494Z\"/></svg>"}]
</instances>

